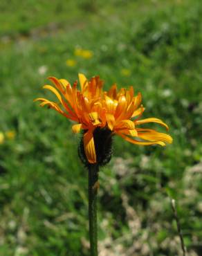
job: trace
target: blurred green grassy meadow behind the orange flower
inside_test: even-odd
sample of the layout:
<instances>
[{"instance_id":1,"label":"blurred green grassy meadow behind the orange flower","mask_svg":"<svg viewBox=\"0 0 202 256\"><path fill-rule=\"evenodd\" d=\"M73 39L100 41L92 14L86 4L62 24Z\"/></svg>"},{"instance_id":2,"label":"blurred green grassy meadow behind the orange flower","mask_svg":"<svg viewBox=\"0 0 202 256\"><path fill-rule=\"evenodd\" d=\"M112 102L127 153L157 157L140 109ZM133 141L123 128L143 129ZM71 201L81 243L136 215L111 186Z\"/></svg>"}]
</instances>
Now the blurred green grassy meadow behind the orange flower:
<instances>
[{"instance_id":1,"label":"blurred green grassy meadow behind the orange flower","mask_svg":"<svg viewBox=\"0 0 202 256\"><path fill-rule=\"evenodd\" d=\"M39 108L46 77L100 75L133 85L144 117L174 143L114 138L100 171L100 256L202 255L202 5L197 0L1 0L0 255L89 255L87 173L80 136ZM149 127L160 127L150 125Z\"/></svg>"}]
</instances>

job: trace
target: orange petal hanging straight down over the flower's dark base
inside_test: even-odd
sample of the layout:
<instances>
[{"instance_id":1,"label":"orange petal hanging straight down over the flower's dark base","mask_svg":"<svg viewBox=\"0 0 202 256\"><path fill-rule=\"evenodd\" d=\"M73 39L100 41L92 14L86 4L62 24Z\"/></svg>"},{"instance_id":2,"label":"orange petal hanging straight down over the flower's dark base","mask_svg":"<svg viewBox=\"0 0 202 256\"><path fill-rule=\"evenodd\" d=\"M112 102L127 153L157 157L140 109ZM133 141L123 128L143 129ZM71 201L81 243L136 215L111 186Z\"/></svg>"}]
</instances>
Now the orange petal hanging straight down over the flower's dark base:
<instances>
[{"instance_id":1,"label":"orange petal hanging straight down over the flower's dark base","mask_svg":"<svg viewBox=\"0 0 202 256\"><path fill-rule=\"evenodd\" d=\"M84 151L89 163L96 163L96 153L92 130L89 130L84 134Z\"/></svg>"}]
</instances>

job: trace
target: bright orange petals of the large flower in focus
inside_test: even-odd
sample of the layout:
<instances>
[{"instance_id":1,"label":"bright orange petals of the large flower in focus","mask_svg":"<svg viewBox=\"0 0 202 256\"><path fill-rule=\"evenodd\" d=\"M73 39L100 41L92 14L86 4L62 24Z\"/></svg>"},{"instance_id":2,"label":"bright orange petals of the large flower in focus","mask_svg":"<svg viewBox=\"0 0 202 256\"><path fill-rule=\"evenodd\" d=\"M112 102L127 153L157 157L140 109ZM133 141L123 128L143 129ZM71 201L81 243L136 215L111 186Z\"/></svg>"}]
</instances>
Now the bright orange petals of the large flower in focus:
<instances>
[{"instance_id":1,"label":"bright orange petals of the large flower in focus","mask_svg":"<svg viewBox=\"0 0 202 256\"><path fill-rule=\"evenodd\" d=\"M139 125L147 122L156 122L168 129L165 122L158 118L146 118L140 120L145 110L141 105L141 94L134 95L131 86L129 90L120 89L117 91L116 84L111 86L109 91L102 91L102 80L100 77L92 77L90 81L83 74L79 74L81 91L77 90L77 82L71 84L64 79L58 80L49 77L55 88L45 85L55 93L60 104L51 102L45 98L40 100L40 106L48 105L66 118L77 122L72 126L72 131L77 134L84 130L84 152L89 163L96 163L95 144L93 132L96 128L109 129L111 135L117 134L130 143L137 145L158 144L165 146L165 143L172 143L172 137L155 131L154 129L143 129Z\"/></svg>"}]
</instances>

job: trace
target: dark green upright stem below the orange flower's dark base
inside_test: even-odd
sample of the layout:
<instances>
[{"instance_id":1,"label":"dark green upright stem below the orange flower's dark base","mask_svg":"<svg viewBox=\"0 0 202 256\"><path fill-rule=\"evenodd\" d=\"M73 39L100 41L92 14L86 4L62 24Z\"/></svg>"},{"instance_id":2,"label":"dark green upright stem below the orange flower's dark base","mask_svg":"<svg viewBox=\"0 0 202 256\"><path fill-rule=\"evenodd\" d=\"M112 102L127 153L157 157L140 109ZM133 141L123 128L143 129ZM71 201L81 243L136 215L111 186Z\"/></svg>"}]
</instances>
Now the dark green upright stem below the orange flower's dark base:
<instances>
[{"instance_id":1,"label":"dark green upright stem below the orange flower's dark base","mask_svg":"<svg viewBox=\"0 0 202 256\"><path fill-rule=\"evenodd\" d=\"M98 165L89 167L89 237L91 256L98 256L97 230L97 194L98 194Z\"/></svg>"}]
</instances>

